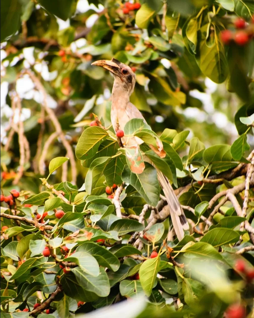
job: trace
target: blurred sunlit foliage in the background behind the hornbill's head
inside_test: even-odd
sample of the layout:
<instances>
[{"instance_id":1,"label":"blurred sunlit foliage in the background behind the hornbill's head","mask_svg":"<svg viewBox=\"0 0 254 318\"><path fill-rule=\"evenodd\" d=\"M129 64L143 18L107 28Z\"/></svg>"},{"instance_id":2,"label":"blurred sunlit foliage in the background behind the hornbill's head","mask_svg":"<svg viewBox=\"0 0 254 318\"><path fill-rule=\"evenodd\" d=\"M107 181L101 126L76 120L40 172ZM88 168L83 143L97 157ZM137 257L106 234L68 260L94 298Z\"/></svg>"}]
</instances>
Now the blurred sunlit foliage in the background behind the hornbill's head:
<instances>
[{"instance_id":1,"label":"blurred sunlit foliage in the background behind the hornbill's head","mask_svg":"<svg viewBox=\"0 0 254 318\"><path fill-rule=\"evenodd\" d=\"M195 135L208 147L231 144L238 133L246 131L239 117L254 112L254 41L242 47L223 46L220 31L234 30L237 17L243 17L250 28L253 1L147 0L136 4L129 10L128 3L110 0L1 2L2 171L17 172L20 150L12 125L19 119L30 145L24 174L32 178L22 179L31 182L27 184L30 190L37 182L33 173L43 174L54 156L66 154L59 136L52 137L45 149L54 124L41 107L43 96L29 70L42 83L48 107L73 149L93 114L103 118L105 127L110 125L113 77L91 62L112 57L133 67L137 84L131 101L158 135L164 128L189 129L189 138ZM238 73L231 72L233 64L239 65ZM15 90L22 99L21 114L11 106ZM251 131L248 143L253 148ZM81 185L86 169L77 164L77 170ZM60 171L56 180L61 176ZM70 171L69 179L73 179Z\"/></svg>"}]
</instances>

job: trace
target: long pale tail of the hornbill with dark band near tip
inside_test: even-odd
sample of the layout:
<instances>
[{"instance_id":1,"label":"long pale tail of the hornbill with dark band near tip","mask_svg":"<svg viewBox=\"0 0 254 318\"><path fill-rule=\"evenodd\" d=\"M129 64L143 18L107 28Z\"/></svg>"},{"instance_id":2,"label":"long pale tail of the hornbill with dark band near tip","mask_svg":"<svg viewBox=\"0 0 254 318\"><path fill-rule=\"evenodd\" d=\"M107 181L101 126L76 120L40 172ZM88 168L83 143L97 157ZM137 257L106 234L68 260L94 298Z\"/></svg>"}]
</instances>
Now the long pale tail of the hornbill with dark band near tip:
<instances>
[{"instance_id":1,"label":"long pale tail of the hornbill with dark band near tip","mask_svg":"<svg viewBox=\"0 0 254 318\"><path fill-rule=\"evenodd\" d=\"M161 184L162 190L169 205L170 216L177 235L177 239L180 241L184 237L184 230L189 230L189 224L168 178L164 176L159 169L156 168L156 170L159 183Z\"/></svg>"}]
</instances>

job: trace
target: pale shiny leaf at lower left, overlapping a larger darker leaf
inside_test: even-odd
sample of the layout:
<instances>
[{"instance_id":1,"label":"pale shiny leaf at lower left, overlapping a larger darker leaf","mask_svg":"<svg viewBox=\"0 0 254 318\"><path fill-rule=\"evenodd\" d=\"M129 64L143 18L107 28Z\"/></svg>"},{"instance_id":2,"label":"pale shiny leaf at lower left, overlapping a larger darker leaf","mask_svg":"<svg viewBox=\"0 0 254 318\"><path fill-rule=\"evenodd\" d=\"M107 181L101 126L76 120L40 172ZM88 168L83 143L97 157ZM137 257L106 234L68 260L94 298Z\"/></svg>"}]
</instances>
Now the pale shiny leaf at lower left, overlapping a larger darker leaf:
<instances>
[{"instance_id":1,"label":"pale shiny leaf at lower left, overlapping a larger darker leaf","mask_svg":"<svg viewBox=\"0 0 254 318\"><path fill-rule=\"evenodd\" d=\"M66 262L75 262L80 267L80 270L93 277L97 277L100 273L97 260L89 253L83 252L83 250L73 253L64 260Z\"/></svg>"}]
</instances>

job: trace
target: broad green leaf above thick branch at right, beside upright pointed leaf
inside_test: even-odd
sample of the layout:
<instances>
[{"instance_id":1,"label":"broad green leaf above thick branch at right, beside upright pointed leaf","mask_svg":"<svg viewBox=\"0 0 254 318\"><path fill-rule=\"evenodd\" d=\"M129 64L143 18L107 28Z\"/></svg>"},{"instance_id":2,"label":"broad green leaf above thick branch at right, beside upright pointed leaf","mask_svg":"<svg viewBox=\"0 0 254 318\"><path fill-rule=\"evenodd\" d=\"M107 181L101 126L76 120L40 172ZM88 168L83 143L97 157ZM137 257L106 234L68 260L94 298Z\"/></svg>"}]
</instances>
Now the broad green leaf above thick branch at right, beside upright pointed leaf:
<instances>
[{"instance_id":1,"label":"broad green leaf above thick branch at right, beside upright pointed leaf","mask_svg":"<svg viewBox=\"0 0 254 318\"><path fill-rule=\"evenodd\" d=\"M238 163L232 158L229 145L215 145L205 149L203 159L212 164L212 170L216 173L234 168Z\"/></svg>"}]
</instances>

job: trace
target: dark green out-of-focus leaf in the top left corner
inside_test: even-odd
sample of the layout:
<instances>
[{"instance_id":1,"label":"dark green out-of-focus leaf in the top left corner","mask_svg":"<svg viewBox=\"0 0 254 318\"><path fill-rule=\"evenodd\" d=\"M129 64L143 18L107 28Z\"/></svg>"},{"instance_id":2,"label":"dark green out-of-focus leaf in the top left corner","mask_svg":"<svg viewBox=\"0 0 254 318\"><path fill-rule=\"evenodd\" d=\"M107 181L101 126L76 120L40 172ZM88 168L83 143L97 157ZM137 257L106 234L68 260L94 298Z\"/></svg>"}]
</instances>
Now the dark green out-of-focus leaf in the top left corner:
<instances>
[{"instance_id":1,"label":"dark green out-of-focus leaf in the top left corner","mask_svg":"<svg viewBox=\"0 0 254 318\"><path fill-rule=\"evenodd\" d=\"M1 1L1 42L18 30L20 26L21 9L22 7L19 0Z\"/></svg>"}]
</instances>

